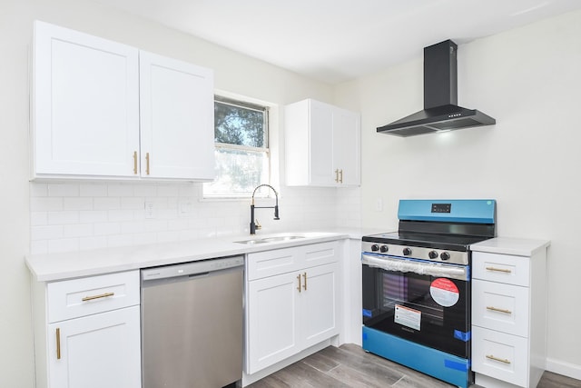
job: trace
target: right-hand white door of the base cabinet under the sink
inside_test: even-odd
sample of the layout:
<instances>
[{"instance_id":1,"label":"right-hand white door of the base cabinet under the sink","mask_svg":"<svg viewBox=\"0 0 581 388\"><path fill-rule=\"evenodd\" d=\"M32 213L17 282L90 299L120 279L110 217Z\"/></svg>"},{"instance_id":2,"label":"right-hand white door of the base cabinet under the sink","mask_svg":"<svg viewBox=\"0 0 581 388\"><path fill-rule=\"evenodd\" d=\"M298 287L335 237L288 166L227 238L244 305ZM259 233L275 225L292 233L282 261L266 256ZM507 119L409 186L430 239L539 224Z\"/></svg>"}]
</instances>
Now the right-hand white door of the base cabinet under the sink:
<instances>
[{"instance_id":1,"label":"right-hand white door of the base cabinet under the sink","mask_svg":"<svg viewBox=\"0 0 581 388\"><path fill-rule=\"evenodd\" d=\"M300 294L299 319L306 348L320 343L339 333L337 323L338 264L326 264L304 270L302 276L303 291Z\"/></svg>"}]
</instances>

